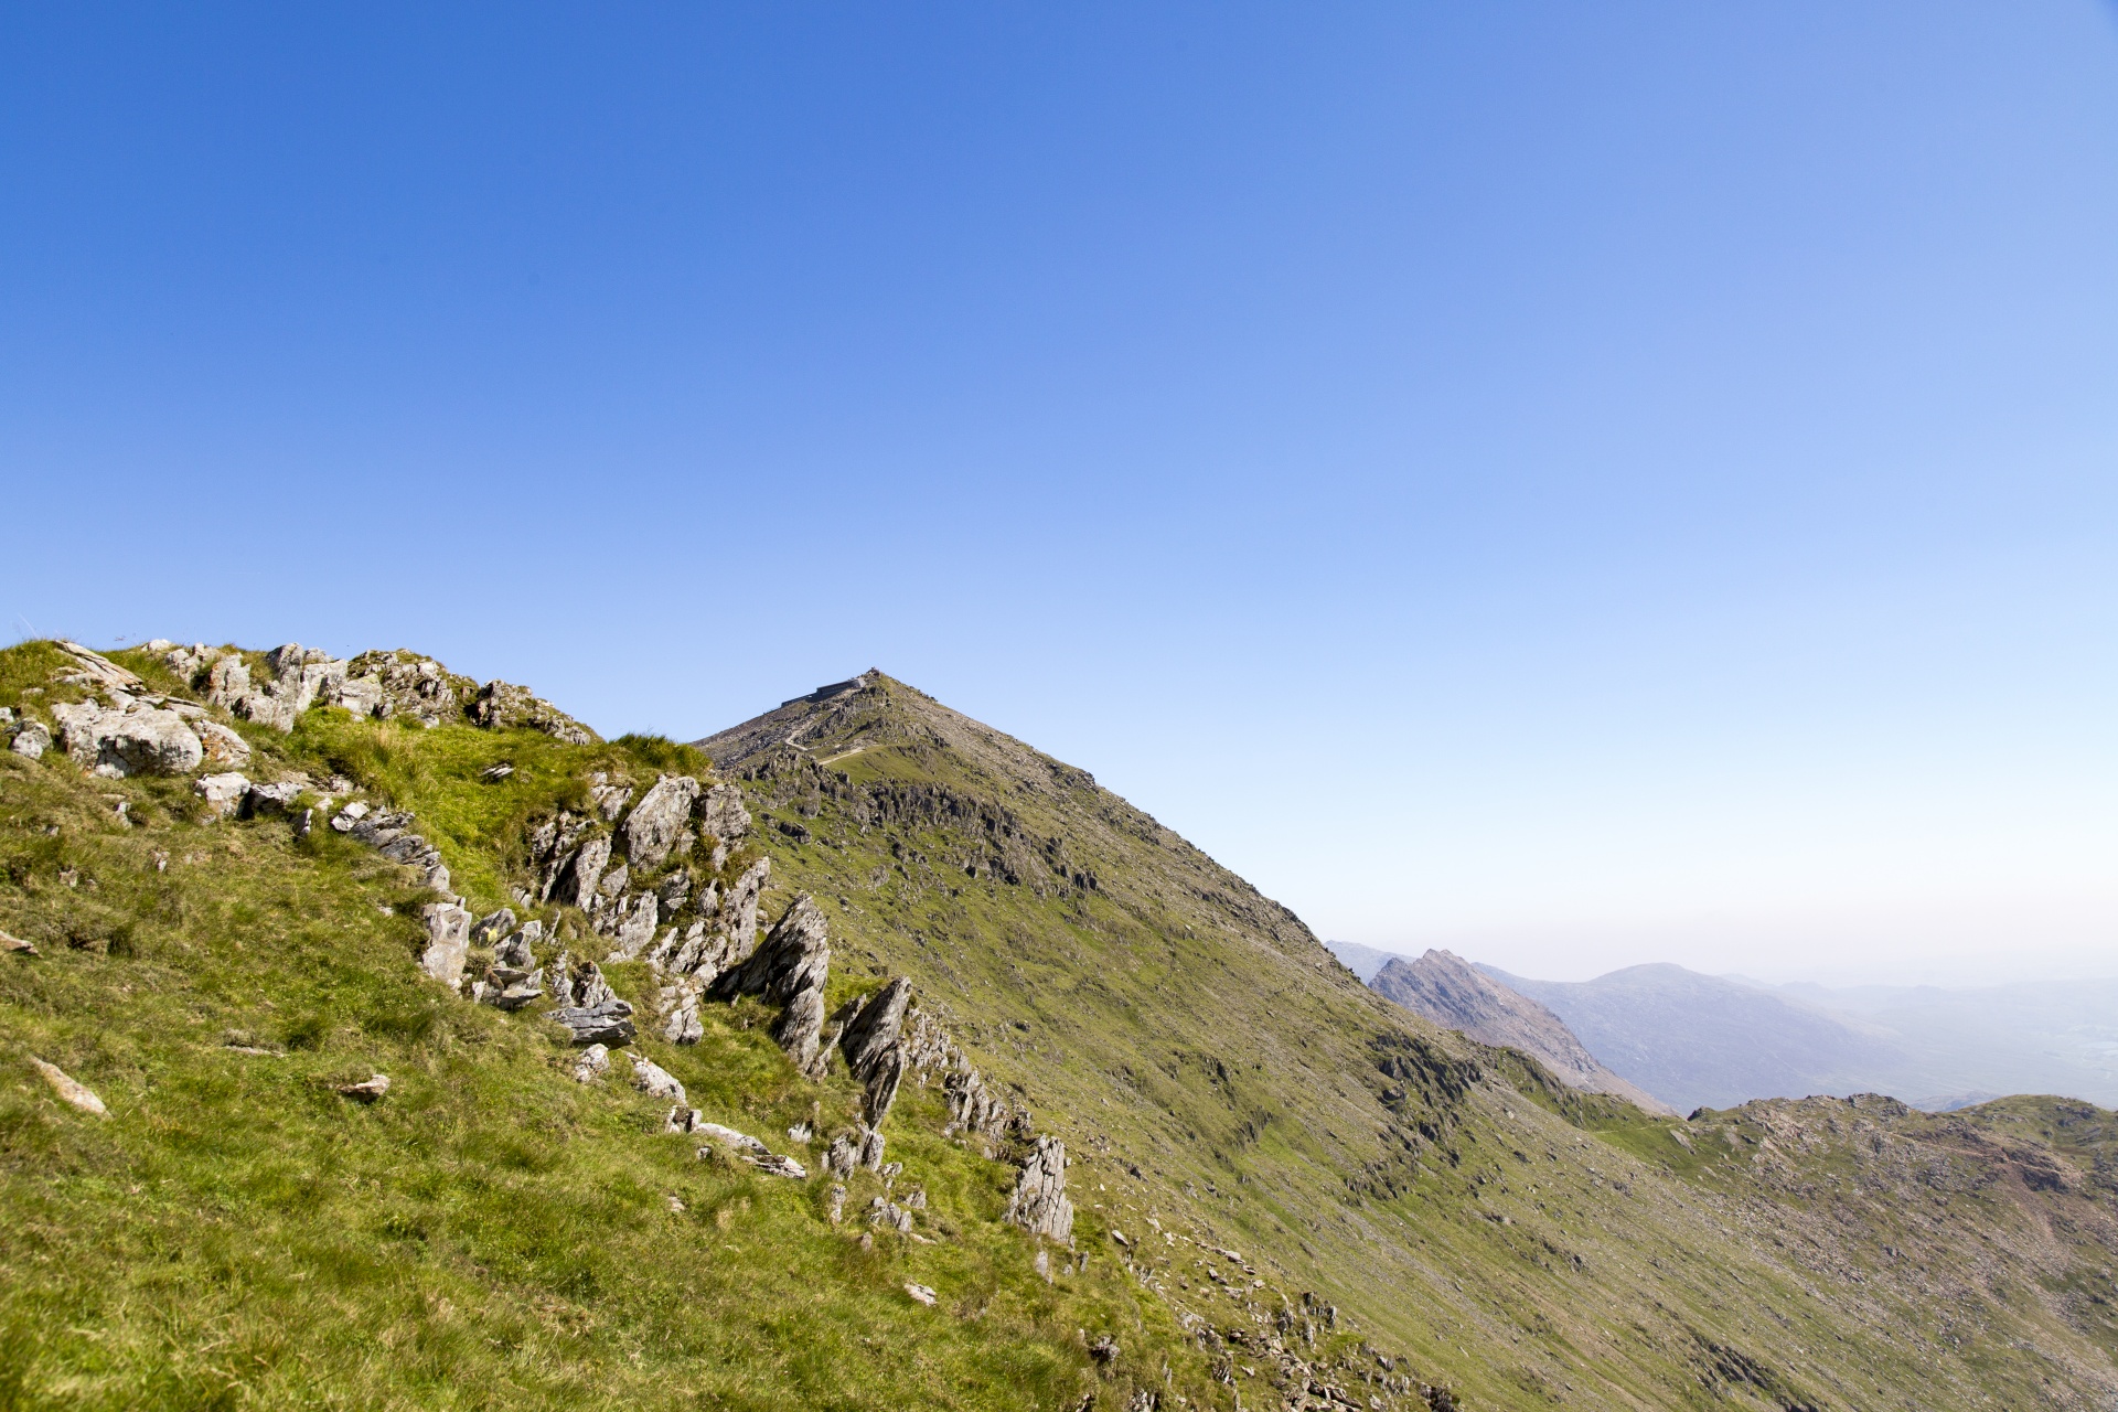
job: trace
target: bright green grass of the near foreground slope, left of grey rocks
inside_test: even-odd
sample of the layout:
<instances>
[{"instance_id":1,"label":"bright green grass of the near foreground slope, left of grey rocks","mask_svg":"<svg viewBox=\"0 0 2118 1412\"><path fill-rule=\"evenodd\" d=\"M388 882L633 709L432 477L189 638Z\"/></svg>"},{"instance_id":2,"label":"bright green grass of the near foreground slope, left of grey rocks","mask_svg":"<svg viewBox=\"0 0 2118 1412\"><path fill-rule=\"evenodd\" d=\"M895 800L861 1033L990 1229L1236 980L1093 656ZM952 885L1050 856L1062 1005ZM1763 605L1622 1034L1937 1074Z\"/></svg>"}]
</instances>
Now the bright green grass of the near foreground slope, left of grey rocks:
<instances>
[{"instance_id":1,"label":"bright green grass of the near foreground slope, left of grey rocks","mask_svg":"<svg viewBox=\"0 0 2118 1412\"><path fill-rule=\"evenodd\" d=\"M49 669L0 654L0 701ZM417 809L474 906L500 902L523 817L591 766L650 781L657 754L333 711L246 735L252 777L343 768ZM493 760L517 775L479 783ZM665 1103L576 1086L553 1027L415 974L428 893L328 830L199 823L189 781L0 754L0 927L42 946L0 957L0 1406L1072 1408L1165 1387L1165 1359L1167 1387L1205 1382L1112 1260L1034 1277L998 1224L1010 1169L943 1141L938 1097L911 1090L887 1128L934 1245L862 1249L875 1177L832 1228L826 1183L701 1162ZM635 970L614 967L623 993ZM640 1048L775 1149L811 1105L847 1120L849 1082L803 1082L756 1018L710 1008L697 1048ZM110 1118L55 1103L28 1052ZM375 1107L335 1092L375 1069ZM1125 1348L1106 1378L1082 1332Z\"/></svg>"}]
</instances>

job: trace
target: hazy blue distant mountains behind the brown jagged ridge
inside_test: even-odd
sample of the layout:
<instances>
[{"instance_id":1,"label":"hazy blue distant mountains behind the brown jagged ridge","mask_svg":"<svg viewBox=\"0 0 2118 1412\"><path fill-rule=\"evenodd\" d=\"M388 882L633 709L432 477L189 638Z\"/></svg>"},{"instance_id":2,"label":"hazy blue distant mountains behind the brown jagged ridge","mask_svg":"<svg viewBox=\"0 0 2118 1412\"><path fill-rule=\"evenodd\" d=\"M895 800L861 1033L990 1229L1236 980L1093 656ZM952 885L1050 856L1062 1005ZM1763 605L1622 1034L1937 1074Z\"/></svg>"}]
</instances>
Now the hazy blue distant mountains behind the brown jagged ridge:
<instances>
[{"instance_id":1,"label":"hazy blue distant mountains behind the brown jagged ridge","mask_svg":"<svg viewBox=\"0 0 2118 1412\"><path fill-rule=\"evenodd\" d=\"M1377 982L1400 959L1368 946L1332 951L1392 995ZM1771 986L1667 963L1578 982L1476 970L1563 1020L1612 1073L1684 1111L1853 1092L1925 1109L2008 1092L2118 1103L2118 980L1946 991ZM1451 1025L1432 1006L1413 1008Z\"/></svg>"}]
</instances>

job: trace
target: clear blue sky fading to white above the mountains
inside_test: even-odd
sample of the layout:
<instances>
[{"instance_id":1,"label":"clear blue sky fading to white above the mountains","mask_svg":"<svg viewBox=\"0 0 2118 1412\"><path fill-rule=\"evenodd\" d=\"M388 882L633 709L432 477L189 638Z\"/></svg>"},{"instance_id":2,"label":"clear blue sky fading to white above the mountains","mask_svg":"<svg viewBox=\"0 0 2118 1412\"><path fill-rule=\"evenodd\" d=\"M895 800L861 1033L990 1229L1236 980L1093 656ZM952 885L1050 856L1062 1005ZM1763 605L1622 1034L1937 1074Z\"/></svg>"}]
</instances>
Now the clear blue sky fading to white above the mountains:
<instances>
[{"instance_id":1,"label":"clear blue sky fading to white above the mountains","mask_svg":"<svg viewBox=\"0 0 2118 1412\"><path fill-rule=\"evenodd\" d=\"M1326 936L2118 972L2105 4L0 6L0 612L879 665Z\"/></svg>"}]
</instances>

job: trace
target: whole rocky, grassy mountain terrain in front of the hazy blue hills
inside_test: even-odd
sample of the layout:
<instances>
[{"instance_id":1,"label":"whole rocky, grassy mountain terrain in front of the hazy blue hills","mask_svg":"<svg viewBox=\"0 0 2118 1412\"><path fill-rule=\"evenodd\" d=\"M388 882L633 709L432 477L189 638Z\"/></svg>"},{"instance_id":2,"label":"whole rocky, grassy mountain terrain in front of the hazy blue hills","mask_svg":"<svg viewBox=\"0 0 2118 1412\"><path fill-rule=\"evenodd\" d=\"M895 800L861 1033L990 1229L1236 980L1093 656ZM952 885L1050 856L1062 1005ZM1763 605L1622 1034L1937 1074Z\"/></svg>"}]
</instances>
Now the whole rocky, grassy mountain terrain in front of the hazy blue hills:
<instances>
[{"instance_id":1,"label":"whole rocky, grassy mountain terrain in front of the hazy blue hills","mask_svg":"<svg viewBox=\"0 0 2118 1412\"><path fill-rule=\"evenodd\" d=\"M684 745L32 641L0 711L11 1406L2118 1406L2112 1114L1656 1111L881 671Z\"/></svg>"}]
</instances>

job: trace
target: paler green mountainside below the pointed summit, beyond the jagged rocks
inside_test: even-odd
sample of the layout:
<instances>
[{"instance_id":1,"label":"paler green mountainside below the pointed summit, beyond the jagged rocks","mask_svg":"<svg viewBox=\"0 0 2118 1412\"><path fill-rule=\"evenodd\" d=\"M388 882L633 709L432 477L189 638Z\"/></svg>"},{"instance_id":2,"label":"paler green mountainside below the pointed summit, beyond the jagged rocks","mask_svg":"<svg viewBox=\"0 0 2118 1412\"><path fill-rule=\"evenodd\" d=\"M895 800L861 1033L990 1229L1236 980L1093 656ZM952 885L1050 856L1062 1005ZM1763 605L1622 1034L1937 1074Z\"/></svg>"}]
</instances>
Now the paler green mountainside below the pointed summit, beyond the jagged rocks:
<instances>
[{"instance_id":1,"label":"paler green mountainside below the pointed summit, beyond the jagged rocks","mask_svg":"<svg viewBox=\"0 0 2118 1412\"><path fill-rule=\"evenodd\" d=\"M1082 1202L1103 1219L1154 1213L1241 1247L1472 1406L2118 1391L2101 1306L2069 1285L2118 1253L2107 1183L2025 1198L1917 1114L1684 1124L1582 1101L1372 995L1078 771L887 680L828 711L809 758L750 764L756 807L809 834L775 883L832 898L868 967L913 974L1091 1156ZM976 807L892 817L907 788ZM1383 1073L1392 1054L1419 1082ZM1802 1137L1754 1141L1758 1122ZM1269 1313L1201 1298L1199 1251L1165 1253L1180 1306L1220 1325Z\"/></svg>"}]
</instances>

